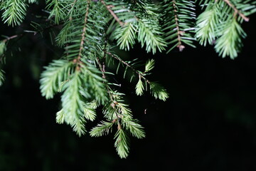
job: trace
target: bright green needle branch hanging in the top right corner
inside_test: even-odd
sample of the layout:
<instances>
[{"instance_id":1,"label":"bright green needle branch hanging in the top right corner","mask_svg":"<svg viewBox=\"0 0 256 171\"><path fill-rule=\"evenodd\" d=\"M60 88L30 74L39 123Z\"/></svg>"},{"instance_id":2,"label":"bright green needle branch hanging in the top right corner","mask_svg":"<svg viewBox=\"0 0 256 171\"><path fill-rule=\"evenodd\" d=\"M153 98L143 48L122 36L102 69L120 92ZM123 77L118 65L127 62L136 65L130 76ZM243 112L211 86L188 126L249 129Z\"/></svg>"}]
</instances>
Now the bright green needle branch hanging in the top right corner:
<instances>
[{"instance_id":1,"label":"bright green needle branch hanging in the top right corner","mask_svg":"<svg viewBox=\"0 0 256 171\"><path fill-rule=\"evenodd\" d=\"M246 34L240 26L249 21L256 11L256 1L222 0L200 1L205 8L197 18L196 38L201 45L215 46L215 51L225 58L235 58L242 48L242 38Z\"/></svg>"}]
</instances>

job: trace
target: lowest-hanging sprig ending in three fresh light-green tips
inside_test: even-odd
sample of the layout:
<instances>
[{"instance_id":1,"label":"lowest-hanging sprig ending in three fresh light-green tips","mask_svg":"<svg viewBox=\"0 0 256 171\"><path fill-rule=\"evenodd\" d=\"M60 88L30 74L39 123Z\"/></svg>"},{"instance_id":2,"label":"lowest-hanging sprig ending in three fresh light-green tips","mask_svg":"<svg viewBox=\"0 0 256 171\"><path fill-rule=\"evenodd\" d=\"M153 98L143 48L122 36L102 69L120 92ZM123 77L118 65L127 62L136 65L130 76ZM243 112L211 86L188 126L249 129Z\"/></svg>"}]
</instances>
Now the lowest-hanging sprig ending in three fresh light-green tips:
<instances>
[{"instance_id":1,"label":"lowest-hanging sprig ending in three fresh light-green tips","mask_svg":"<svg viewBox=\"0 0 256 171\"><path fill-rule=\"evenodd\" d=\"M103 114L107 122L102 121L95 128L92 128L90 135L92 137L99 137L107 135L112 132L112 127L117 126L117 133L114 135L114 147L117 148L117 153L121 158L126 158L129 153L129 135L136 138L144 138L145 133L142 125L139 125L138 120L132 117L132 111L123 103L122 93L116 91L111 92L112 102L105 105Z\"/></svg>"}]
</instances>

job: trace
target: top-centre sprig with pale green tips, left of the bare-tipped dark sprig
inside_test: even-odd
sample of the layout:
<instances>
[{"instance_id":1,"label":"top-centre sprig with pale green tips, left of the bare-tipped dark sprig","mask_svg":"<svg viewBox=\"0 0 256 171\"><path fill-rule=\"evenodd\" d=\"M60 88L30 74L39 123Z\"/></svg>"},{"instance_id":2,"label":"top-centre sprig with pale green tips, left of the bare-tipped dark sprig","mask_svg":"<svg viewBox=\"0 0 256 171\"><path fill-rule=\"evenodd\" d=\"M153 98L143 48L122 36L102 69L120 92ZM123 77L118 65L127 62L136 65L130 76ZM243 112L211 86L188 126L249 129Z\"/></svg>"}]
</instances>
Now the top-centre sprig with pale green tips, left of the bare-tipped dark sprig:
<instances>
[{"instance_id":1,"label":"top-centre sprig with pale green tips, left of the bare-tipped dark sprig","mask_svg":"<svg viewBox=\"0 0 256 171\"><path fill-rule=\"evenodd\" d=\"M121 49L129 50L135 40L146 46L146 51L156 53L156 50L163 51L166 46L163 32L159 25L160 14L151 1L126 1L114 2L114 19L118 19L117 31L113 34L117 39L117 45Z\"/></svg>"}]
</instances>

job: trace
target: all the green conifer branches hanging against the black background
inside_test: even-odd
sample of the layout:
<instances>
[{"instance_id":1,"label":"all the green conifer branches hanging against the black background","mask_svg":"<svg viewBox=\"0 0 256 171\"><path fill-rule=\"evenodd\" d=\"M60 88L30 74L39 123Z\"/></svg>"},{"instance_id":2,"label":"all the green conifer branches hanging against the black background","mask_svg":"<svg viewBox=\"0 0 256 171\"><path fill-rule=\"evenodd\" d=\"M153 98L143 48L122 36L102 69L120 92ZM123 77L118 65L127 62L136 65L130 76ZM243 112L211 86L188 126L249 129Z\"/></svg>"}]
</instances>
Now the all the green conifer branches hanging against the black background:
<instances>
[{"instance_id":1,"label":"all the green conifer branches hanging against the black background","mask_svg":"<svg viewBox=\"0 0 256 171\"><path fill-rule=\"evenodd\" d=\"M0 1L2 20L8 26L21 25L26 9L33 3L39 1ZM92 128L90 135L99 137L115 131L114 147L122 158L129 154L129 135L144 138L145 133L114 83L119 68L123 68L124 78L128 77L127 71L132 73L130 82L137 79L133 85L137 95L149 90L154 98L165 101L169 94L159 83L147 78L154 69L153 59L143 64L144 71L140 71L142 63L136 59L124 61L113 49L118 46L129 51L139 43L147 52L169 53L175 48L179 51L186 46L195 48L198 41L203 46L213 45L223 58L235 58L246 36L241 24L249 21L248 16L256 11L256 2L251 0L46 0L45 3L46 24L31 21L35 29L32 32L61 27L54 38L64 53L41 74L41 94L50 99L60 93L62 108L56 114L56 122L67 123L79 136L86 133L85 123L99 115L96 108L103 108L105 120ZM197 17L196 5L202 9ZM0 42L1 61L8 42L26 33L30 31ZM114 63L116 73L112 73L110 63ZM0 86L3 81L4 71L0 70Z\"/></svg>"}]
</instances>

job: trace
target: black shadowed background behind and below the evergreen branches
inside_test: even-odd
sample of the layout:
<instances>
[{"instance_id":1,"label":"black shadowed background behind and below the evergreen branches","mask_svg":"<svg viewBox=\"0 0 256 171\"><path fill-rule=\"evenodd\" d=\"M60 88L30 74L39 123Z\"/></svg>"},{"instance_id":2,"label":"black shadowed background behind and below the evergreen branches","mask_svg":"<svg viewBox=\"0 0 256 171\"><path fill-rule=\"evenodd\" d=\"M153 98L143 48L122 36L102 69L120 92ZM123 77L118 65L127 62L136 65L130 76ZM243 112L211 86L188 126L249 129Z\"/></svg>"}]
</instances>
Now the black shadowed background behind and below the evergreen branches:
<instances>
[{"instance_id":1,"label":"black shadowed background behind and below the evergreen branches","mask_svg":"<svg viewBox=\"0 0 256 171\"><path fill-rule=\"evenodd\" d=\"M155 58L151 80L170 95L165 103L137 97L135 83L119 79L146 131L143 140L131 138L126 160L115 152L113 134L78 138L70 126L55 123L60 96L46 100L38 83L43 66L60 58L48 33L10 41L0 88L0 170L256 170L255 21L254 15L243 24L247 38L235 60L220 58L212 46L155 56L137 46L121 53ZM26 22L18 28L1 23L0 30L12 36L28 28ZM99 121L87 123L87 130Z\"/></svg>"}]
</instances>

